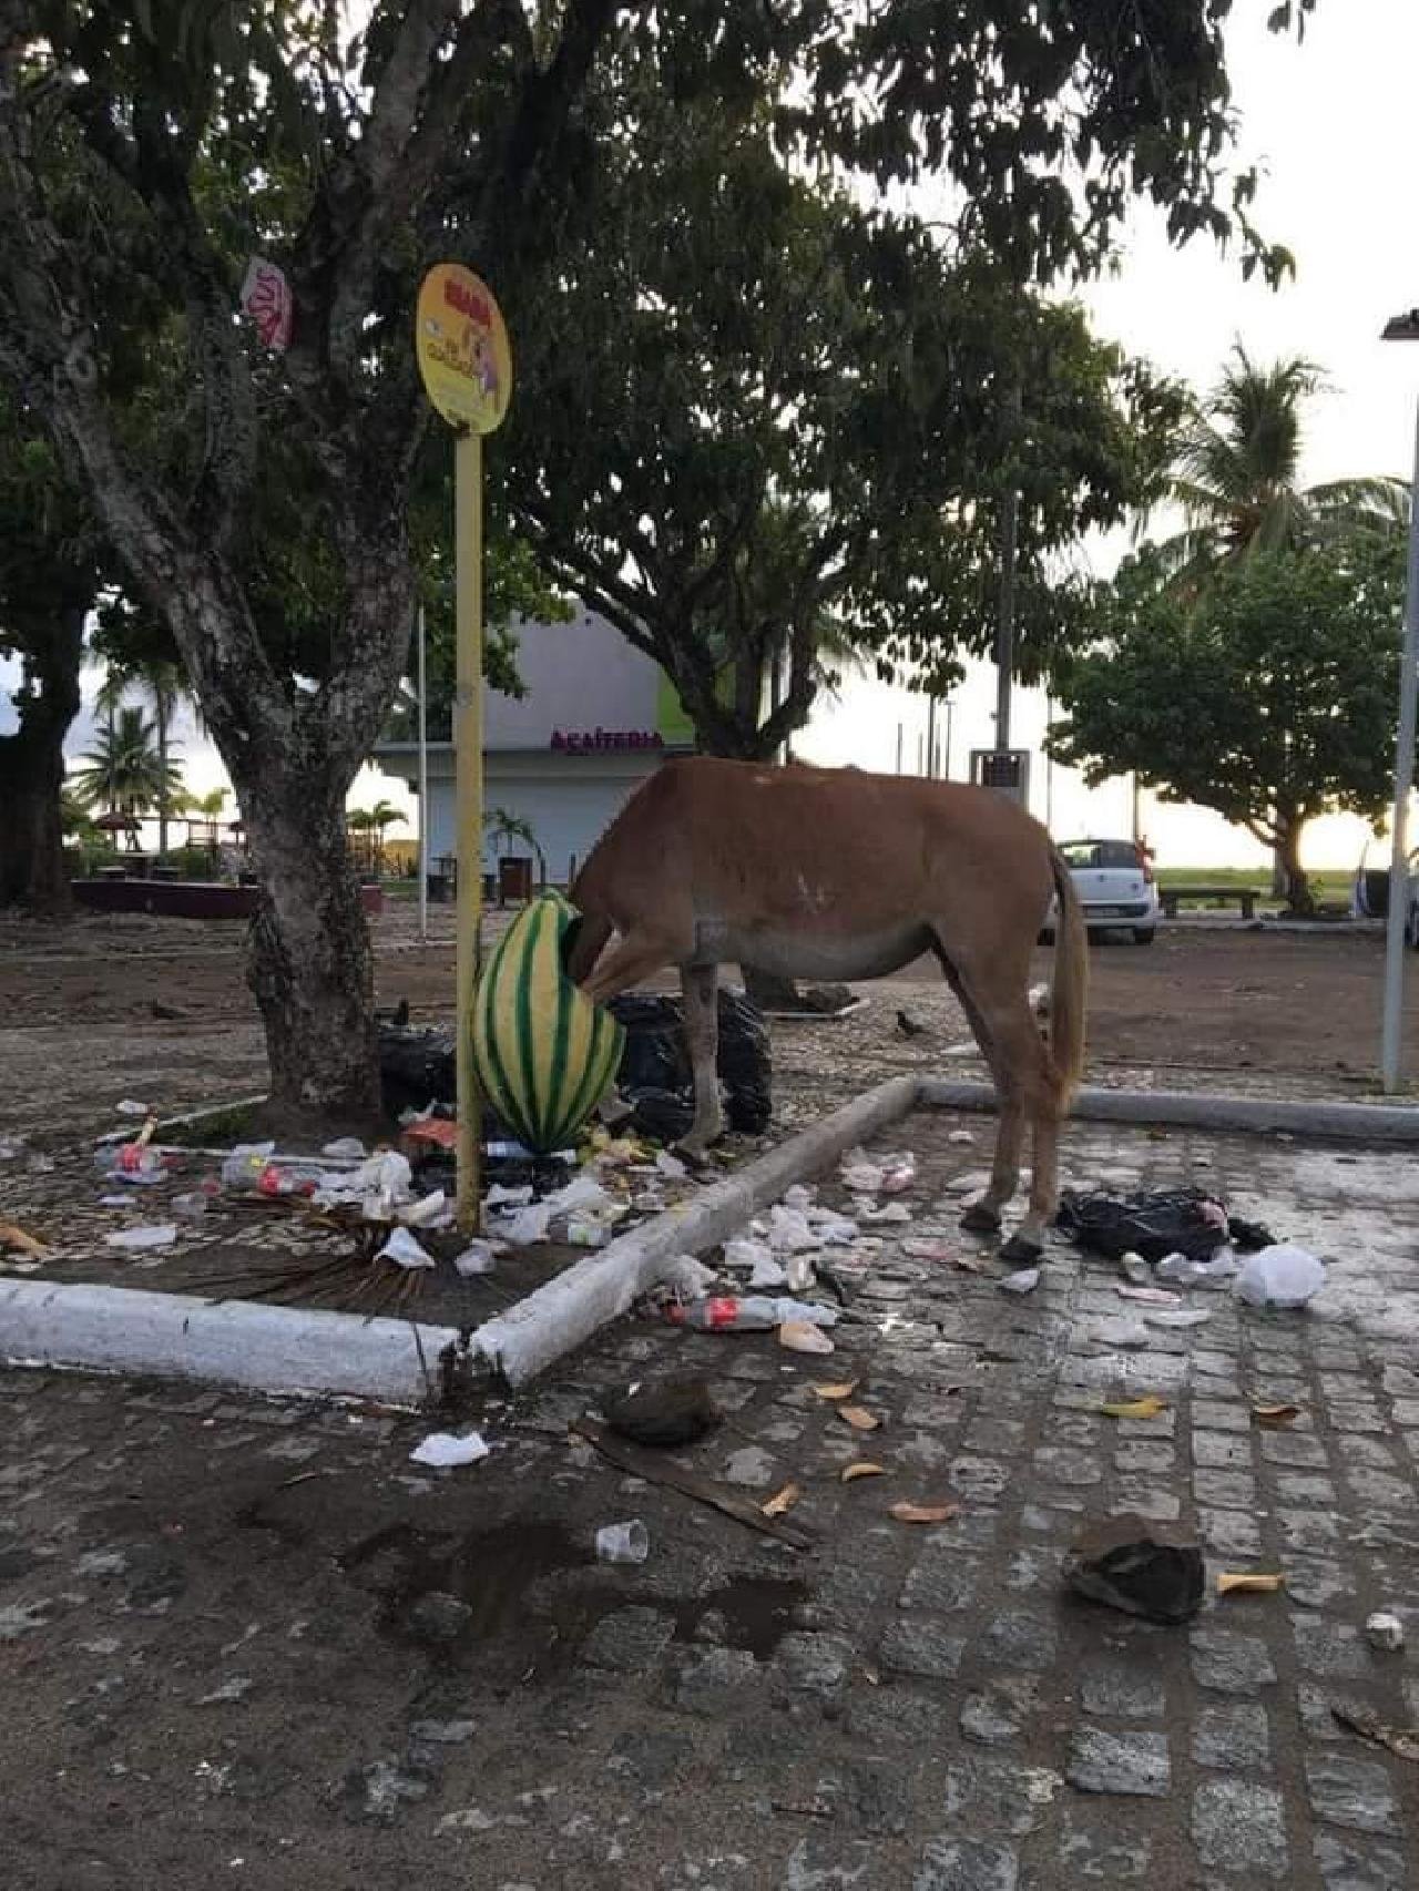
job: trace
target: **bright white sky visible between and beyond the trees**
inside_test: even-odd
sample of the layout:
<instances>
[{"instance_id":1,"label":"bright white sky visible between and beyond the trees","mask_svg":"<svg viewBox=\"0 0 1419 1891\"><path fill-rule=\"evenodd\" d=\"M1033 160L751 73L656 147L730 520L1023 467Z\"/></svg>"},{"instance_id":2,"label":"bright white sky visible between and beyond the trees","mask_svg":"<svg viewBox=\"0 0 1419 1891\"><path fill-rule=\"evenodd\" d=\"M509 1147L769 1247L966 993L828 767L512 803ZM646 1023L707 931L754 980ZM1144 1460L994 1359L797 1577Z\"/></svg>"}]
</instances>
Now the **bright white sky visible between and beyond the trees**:
<instances>
[{"instance_id":1,"label":"bright white sky visible between and beyond the trees","mask_svg":"<svg viewBox=\"0 0 1419 1891\"><path fill-rule=\"evenodd\" d=\"M1135 214L1114 274L1082 293L1099 335L1143 354L1198 390L1209 388L1235 338L1254 359L1302 354L1321 363L1330 391L1307 416L1305 482L1347 475L1410 477L1413 460L1419 344L1379 342L1391 314L1419 304L1419 240L1413 199L1413 119L1419 78L1419 0L1321 0L1305 43L1266 32L1271 0L1237 0L1228 28L1234 100L1241 115L1239 151L1262 170L1254 206L1268 238L1296 255L1296 278L1271 291L1243 284L1235 257L1198 240L1167 246L1160 219ZM1116 543L1088 548L1097 569L1118 556ZM0 732L13 726L0 666ZM87 679L89 696L96 677ZM967 749L991 741L995 681L974 666L952 717L952 773L965 777ZM925 703L902 690L850 679L797 743L819 762L914 770ZM1012 737L1039 751L1044 702L1018 692ZM195 726L178 730L189 785L201 792L223 781L221 764ZM68 753L93 739L93 717L76 722ZM403 789L363 772L352 806ZM1046 806L1048 798L1048 806ZM1111 783L1088 792L1039 753L1031 807L1050 817L1060 838L1128 832L1131 787ZM1164 864L1247 864L1258 859L1249 838L1218 817L1165 807L1143 798L1143 830ZM1311 866L1353 866L1366 841L1364 823L1338 817L1315 824Z\"/></svg>"}]
</instances>

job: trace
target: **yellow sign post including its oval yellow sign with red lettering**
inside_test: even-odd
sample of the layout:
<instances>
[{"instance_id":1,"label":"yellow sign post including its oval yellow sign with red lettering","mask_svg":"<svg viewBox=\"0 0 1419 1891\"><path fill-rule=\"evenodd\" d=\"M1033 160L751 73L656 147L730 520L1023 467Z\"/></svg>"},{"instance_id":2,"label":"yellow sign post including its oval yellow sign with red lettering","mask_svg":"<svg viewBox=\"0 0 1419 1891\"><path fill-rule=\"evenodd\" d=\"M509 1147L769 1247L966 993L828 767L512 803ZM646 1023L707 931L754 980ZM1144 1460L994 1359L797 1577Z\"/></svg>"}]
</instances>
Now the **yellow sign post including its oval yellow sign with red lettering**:
<instances>
[{"instance_id":1,"label":"yellow sign post including its oval yellow sign with red lettering","mask_svg":"<svg viewBox=\"0 0 1419 1891\"><path fill-rule=\"evenodd\" d=\"M458 1223L475 1229L482 1144L471 1029L482 928L482 435L507 412L513 350L492 291L460 263L439 263L424 278L414 335L424 391L456 433Z\"/></svg>"}]
</instances>

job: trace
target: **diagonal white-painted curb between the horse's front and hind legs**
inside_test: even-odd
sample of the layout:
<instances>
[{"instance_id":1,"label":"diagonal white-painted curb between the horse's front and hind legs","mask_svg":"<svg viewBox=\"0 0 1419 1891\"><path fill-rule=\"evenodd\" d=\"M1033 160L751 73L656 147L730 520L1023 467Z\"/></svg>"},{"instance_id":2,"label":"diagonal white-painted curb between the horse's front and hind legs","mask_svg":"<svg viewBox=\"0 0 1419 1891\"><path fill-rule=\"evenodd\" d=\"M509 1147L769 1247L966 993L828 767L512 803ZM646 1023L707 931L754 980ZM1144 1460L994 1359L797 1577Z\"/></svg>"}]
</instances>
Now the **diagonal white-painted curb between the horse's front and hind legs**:
<instances>
[{"instance_id":1,"label":"diagonal white-painted curb between the horse's front and hind legs","mask_svg":"<svg viewBox=\"0 0 1419 1891\"><path fill-rule=\"evenodd\" d=\"M524 1384L560 1354L590 1339L607 1320L626 1312L655 1286L670 1261L727 1240L791 1184L817 1174L855 1142L906 1116L916 1093L916 1078L897 1076L853 1097L821 1123L708 1188L683 1208L658 1214L486 1320L471 1335L469 1350L496 1367L509 1384Z\"/></svg>"}]
</instances>

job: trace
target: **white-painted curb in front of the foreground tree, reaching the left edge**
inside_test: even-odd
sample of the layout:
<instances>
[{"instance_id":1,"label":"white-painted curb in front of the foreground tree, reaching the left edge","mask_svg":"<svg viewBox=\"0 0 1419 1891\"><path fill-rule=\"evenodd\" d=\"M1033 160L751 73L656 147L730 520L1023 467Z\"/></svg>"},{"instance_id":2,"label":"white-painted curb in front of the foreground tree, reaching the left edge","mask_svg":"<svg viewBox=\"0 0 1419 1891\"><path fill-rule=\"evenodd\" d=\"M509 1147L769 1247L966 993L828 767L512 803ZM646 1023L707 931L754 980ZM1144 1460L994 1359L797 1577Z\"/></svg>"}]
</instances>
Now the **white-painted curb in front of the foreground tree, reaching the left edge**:
<instances>
[{"instance_id":1,"label":"white-painted curb in front of the foreground tree, reaching the left edge","mask_svg":"<svg viewBox=\"0 0 1419 1891\"><path fill-rule=\"evenodd\" d=\"M437 1392L439 1354L456 1343L454 1327L409 1320L81 1282L0 1284L0 1358L11 1365L424 1405Z\"/></svg>"}]
</instances>

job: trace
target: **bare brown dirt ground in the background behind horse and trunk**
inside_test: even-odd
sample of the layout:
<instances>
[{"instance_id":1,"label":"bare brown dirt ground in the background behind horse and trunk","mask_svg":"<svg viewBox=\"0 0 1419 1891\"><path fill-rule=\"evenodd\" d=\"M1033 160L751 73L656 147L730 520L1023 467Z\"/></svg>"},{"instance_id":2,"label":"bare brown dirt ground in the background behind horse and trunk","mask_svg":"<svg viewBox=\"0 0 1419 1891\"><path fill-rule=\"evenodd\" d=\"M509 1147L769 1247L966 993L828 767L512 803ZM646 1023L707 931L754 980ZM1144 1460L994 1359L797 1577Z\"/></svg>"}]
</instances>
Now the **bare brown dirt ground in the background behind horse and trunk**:
<instances>
[{"instance_id":1,"label":"bare brown dirt ground in the background behind horse and trunk","mask_svg":"<svg viewBox=\"0 0 1419 1891\"><path fill-rule=\"evenodd\" d=\"M377 923L378 1002L448 1014L452 915L420 946L409 910ZM1374 1087L1383 942L1370 932L1164 928L1152 947L1094 949L1090 1076L1105 1084L1357 1097ZM1050 974L1041 949L1035 976ZM967 1031L935 966L863 987L838 1023L774 1027L785 1125L897 1070L974 1070ZM925 1027L910 1040L897 1012ZM1406 1065L1419 1070L1419 961L1406 1004ZM89 917L66 928L0 923L0 1133L114 1125L132 1097L161 1110L259 1091L265 1048L242 978L242 928Z\"/></svg>"}]
</instances>

